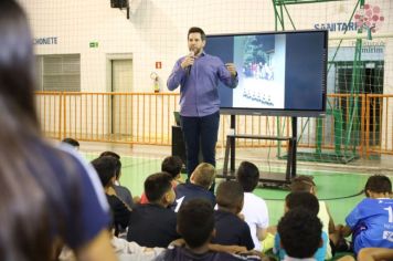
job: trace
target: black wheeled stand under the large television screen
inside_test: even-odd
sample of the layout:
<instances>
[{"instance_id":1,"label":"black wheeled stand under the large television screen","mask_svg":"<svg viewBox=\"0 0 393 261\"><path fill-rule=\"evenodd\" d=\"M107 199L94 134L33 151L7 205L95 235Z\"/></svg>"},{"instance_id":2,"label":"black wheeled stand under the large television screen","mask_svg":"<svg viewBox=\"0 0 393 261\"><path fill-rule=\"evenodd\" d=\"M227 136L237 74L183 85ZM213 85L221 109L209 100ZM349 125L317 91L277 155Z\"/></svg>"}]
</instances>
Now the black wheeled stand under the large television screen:
<instances>
[{"instance_id":1,"label":"black wheeled stand under the large television screen","mask_svg":"<svg viewBox=\"0 0 393 261\"><path fill-rule=\"evenodd\" d=\"M231 128L234 129L235 115L231 115ZM221 178L235 179L235 139L249 138L249 139L269 139L269 140L288 140L288 158L286 173L259 173L259 182L264 187L273 188L288 188L290 180L296 177L296 149L297 149L297 117L291 117L293 136L278 137L278 136L262 136L262 135L245 135L245 134L230 134L226 135L224 167ZM230 157L231 156L231 157ZM230 164L230 169L229 169Z\"/></svg>"}]
</instances>

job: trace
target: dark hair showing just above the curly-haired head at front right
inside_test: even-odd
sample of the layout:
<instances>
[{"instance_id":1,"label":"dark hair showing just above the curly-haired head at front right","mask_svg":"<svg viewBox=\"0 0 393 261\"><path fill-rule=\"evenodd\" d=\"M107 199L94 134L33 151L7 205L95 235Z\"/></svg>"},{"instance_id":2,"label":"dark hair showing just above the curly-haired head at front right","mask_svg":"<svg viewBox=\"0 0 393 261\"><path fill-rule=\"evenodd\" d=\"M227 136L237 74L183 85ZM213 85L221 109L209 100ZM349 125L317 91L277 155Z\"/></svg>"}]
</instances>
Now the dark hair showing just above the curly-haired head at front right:
<instances>
[{"instance_id":1,"label":"dark hair showing just above the curly-haired head at front right","mask_svg":"<svg viewBox=\"0 0 393 261\"><path fill-rule=\"evenodd\" d=\"M317 216L319 212L319 202L315 195L305 191L290 192L285 198L285 203L288 209L302 207Z\"/></svg>"}]
</instances>

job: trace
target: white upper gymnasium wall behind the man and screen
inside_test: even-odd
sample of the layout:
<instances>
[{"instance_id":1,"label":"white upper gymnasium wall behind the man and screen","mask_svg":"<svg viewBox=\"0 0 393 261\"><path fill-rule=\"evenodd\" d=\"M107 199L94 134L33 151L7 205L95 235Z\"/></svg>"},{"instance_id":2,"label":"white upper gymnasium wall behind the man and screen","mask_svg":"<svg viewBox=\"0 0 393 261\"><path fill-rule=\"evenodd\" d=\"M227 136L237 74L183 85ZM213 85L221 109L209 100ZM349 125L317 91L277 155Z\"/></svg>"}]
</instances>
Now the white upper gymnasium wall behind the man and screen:
<instances>
[{"instance_id":1,"label":"white upper gymnasium wall behind the man and screen","mask_svg":"<svg viewBox=\"0 0 393 261\"><path fill-rule=\"evenodd\" d=\"M35 38L57 36L57 44L36 45L38 54L81 53L82 91L107 90L108 53L132 53L135 90L152 91L152 71L164 84L174 61L188 53L187 30L192 25L203 28L208 34L275 30L270 0L130 0L137 7L130 20L125 10L111 9L109 0L20 2L30 15ZM348 21L355 2L297 4L288 6L288 10L297 29L312 29L316 23ZM380 32L391 32L392 2L368 2L384 12ZM286 21L286 29L291 29ZM330 35L338 34L342 32ZM98 42L98 48L91 49L91 41ZM392 56L387 59L392 63ZM156 61L162 62L161 70L155 69Z\"/></svg>"}]
</instances>

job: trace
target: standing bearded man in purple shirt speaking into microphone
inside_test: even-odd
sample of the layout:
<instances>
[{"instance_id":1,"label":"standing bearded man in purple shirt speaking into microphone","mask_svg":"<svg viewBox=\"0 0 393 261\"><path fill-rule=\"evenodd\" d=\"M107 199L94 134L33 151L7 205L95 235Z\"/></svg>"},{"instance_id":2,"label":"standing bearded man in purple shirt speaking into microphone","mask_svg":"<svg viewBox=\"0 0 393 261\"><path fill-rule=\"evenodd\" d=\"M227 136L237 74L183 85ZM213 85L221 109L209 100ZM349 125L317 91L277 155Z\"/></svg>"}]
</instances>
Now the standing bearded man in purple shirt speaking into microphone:
<instances>
[{"instance_id":1,"label":"standing bearded man in purple shirt speaking into microphone","mask_svg":"<svg viewBox=\"0 0 393 261\"><path fill-rule=\"evenodd\" d=\"M203 51L205 44L206 35L203 30L190 28L190 54L177 61L167 83L170 91L180 85L181 128L189 178L199 164L200 145L203 161L215 166L220 125L219 81L232 88L238 83L235 65L224 64L219 58L206 54Z\"/></svg>"}]
</instances>

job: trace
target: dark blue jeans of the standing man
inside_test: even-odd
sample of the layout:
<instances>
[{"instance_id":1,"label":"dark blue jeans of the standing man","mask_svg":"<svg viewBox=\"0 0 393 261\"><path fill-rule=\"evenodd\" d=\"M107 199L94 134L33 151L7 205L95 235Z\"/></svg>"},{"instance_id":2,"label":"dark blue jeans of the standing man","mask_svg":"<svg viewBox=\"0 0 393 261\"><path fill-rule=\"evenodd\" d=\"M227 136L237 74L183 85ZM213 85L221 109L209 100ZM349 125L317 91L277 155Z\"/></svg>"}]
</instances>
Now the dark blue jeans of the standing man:
<instances>
[{"instance_id":1,"label":"dark blue jeans of the standing man","mask_svg":"<svg viewBox=\"0 0 393 261\"><path fill-rule=\"evenodd\" d=\"M219 126L220 112L204 117L181 116L189 179L192 171L200 164L198 157L200 149L202 150L203 161L215 167L215 144L217 143Z\"/></svg>"}]
</instances>

